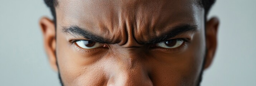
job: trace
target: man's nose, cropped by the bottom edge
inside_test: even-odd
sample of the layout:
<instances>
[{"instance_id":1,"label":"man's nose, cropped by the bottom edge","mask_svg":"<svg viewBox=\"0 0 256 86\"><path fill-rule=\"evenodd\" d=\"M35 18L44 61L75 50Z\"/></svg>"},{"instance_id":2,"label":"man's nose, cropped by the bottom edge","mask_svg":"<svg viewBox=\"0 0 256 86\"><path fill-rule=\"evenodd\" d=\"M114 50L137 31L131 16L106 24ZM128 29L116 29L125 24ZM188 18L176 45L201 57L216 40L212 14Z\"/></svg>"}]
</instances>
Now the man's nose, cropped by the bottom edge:
<instances>
[{"instance_id":1,"label":"man's nose, cropped by the bottom edge","mask_svg":"<svg viewBox=\"0 0 256 86\"><path fill-rule=\"evenodd\" d=\"M115 71L109 78L108 86L152 86L152 81L148 76L146 66L144 66L143 56L134 53L134 48L125 49L119 58Z\"/></svg>"}]
</instances>

